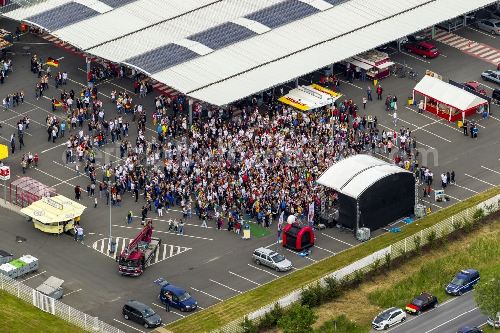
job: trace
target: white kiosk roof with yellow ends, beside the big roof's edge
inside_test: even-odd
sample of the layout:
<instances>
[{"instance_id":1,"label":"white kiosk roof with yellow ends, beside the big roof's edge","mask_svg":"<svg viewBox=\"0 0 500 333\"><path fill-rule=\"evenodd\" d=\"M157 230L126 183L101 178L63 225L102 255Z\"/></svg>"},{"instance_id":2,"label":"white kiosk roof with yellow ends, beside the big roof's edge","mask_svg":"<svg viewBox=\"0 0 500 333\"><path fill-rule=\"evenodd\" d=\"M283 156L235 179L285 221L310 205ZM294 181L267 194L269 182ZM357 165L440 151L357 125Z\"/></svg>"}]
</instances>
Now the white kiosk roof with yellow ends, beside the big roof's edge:
<instances>
[{"instance_id":1,"label":"white kiosk roof with yellow ends, beside the big roof's edge","mask_svg":"<svg viewBox=\"0 0 500 333\"><path fill-rule=\"evenodd\" d=\"M301 111L314 110L323 106L331 105L342 95L318 84L309 86L300 85L292 89L287 95L278 101L291 105Z\"/></svg>"}]
</instances>

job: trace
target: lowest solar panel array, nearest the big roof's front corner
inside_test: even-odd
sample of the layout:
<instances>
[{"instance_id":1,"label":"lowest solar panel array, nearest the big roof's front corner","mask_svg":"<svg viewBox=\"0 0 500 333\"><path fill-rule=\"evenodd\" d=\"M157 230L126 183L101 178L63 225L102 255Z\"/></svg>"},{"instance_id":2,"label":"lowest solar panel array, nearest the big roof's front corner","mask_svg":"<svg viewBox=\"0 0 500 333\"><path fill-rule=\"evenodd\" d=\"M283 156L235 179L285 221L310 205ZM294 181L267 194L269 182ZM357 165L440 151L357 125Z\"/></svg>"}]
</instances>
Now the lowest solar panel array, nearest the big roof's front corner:
<instances>
[{"instance_id":1,"label":"lowest solar panel array, nearest the big roof's front corner","mask_svg":"<svg viewBox=\"0 0 500 333\"><path fill-rule=\"evenodd\" d=\"M167 44L147 53L134 56L125 60L125 62L153 74L198 56L198 53L183 46Z\"/></svg>"}]
</instances>

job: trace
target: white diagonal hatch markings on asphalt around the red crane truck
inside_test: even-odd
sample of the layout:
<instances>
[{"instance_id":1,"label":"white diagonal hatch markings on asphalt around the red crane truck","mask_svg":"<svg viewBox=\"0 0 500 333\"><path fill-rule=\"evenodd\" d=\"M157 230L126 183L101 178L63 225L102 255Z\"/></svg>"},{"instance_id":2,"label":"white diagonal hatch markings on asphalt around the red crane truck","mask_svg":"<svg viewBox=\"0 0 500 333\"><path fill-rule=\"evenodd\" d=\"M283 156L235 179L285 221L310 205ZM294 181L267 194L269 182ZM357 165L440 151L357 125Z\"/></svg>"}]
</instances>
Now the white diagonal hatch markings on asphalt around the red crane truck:
<instances>
[{"instance_id":1,"label":"white diagonal hatch markings on asphalt around the red crane truck","mask_svg":"<svg viewBox=\"0 0 500 333\"><path fill-rule=\"evenodd\" d=\"M97 240L96 242L93 243L92 248L96 251L99 251L107 255L112 259L116 259L116 256L117 255L119 256L125 250L125 247L128 244L130 244L132 240L133 239L122 238L122 237L112 238L112 241L116 242L115 253L109 253L109 238L103 238ZM191 248L189 247L161 244L160 247L156 250L156 254L151 259L149 265L161 262L177 254L186 252L190 249Z\"/></svg>"}]
</instances>

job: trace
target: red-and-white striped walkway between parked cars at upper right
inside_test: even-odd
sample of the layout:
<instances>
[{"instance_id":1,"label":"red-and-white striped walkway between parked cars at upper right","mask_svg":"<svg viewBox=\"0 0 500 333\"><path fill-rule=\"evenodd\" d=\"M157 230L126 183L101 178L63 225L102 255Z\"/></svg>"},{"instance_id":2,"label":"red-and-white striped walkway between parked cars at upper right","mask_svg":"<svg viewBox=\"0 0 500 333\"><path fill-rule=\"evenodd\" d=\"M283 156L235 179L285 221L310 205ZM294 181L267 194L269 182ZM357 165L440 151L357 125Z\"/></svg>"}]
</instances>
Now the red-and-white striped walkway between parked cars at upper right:
<instances>
[{"instance_id":1,"label":"red-and-white striped walkway between parked cars at upper right","mask_svg":"<svg viewBox=\"0 0 500 333\"><path fill-rule=\"evenodd\" d=\"M454 48L458 48L462 52L483 61L490 62L495 65L500 62L500 49L460 37L454 33L437 29L434 40Z\"/></svg>"}]
</instances>

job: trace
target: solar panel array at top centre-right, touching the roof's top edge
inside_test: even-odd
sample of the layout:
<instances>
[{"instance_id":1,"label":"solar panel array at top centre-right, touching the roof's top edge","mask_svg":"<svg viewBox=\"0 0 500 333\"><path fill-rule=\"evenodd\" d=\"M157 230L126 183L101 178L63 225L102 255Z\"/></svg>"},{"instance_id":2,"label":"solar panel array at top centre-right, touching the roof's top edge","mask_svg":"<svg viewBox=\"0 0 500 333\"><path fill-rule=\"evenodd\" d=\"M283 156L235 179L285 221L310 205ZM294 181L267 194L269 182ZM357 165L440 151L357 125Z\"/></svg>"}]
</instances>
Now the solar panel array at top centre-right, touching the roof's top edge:
<instances>
[{"instance_id":1,"label":"solar panel array at top centre-right, touching the roof's top edge","mask_svg":"<svg viewBox=\"0 0 500 333\"><path fill-rule=\"evenodd\" d=\"M271 29L313 15L320 10L307 3L288 0L244 16Z\"/></svg>"}]
</instances>

